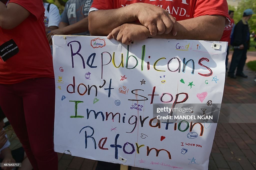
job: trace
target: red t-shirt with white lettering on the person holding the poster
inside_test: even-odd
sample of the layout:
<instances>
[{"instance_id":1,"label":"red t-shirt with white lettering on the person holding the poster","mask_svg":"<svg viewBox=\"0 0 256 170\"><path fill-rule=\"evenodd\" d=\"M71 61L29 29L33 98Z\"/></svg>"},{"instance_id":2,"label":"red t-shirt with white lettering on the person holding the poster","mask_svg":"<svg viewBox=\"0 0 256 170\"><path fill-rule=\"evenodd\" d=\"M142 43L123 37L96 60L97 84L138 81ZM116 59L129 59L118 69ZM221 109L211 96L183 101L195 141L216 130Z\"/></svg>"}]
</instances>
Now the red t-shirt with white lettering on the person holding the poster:
<instances>
[{"instance_id":1,"label":"red t-shirt with white lettering on the person holding the poster","mask_svg":"<svg viewBox=\"0 0 256 170\"><path fill-rule=\"evenodd\" d=\"M157 5L167 10L178 21L203 15L222 15L227 18L226 25L229 25L226 0L93 0L91 9L117 9L138 2Z\"/></svg>"}]
</instances>

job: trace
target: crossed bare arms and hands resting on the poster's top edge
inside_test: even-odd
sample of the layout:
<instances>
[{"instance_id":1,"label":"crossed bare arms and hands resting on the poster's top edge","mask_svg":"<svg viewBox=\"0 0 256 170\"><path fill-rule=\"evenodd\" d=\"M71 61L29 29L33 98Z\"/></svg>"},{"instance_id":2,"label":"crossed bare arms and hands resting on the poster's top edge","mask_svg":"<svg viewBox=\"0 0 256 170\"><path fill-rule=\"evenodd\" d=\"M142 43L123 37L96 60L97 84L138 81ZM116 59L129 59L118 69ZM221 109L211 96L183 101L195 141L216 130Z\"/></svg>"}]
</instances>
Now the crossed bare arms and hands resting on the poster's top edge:
<instances>
[{"instance_id":1,"label":"crossed bare arms and hands resting on the poster's top edge","mask_svg":"<svg viewBox=\"0 0 256 170\"><path fill-rule=\"evenodd\" d=\"M114 38L124 44L148 37L218 41L224 27L224 16L205 15L176 21L163 8L145 3L89 14L91 35L108 35L109 39Z\"/></svg>"}]
</instances>

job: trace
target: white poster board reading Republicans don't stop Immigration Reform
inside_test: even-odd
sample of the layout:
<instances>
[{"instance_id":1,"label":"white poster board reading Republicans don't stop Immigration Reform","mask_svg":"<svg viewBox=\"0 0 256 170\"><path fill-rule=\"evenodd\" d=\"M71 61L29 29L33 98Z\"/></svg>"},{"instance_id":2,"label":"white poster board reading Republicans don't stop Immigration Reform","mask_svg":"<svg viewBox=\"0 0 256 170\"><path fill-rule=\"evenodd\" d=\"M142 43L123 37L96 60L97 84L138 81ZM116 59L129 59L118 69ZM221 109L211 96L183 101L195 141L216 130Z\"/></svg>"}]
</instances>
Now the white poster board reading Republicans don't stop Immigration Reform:
<instances>
[{"instance_id":1,"label":"white poster board reading Republicans don't stop Immigration Reform","mask_svg":"<svg viewBox=\"0 0 256 170\"><path fill-rule=\"evenodd\" d=\"M217 123L153 120L153 104L221 103L226 49L218 41L126 46L106 37L53 36L55 151L156 170L207 169Z\"/></svg>"}]
</instances>

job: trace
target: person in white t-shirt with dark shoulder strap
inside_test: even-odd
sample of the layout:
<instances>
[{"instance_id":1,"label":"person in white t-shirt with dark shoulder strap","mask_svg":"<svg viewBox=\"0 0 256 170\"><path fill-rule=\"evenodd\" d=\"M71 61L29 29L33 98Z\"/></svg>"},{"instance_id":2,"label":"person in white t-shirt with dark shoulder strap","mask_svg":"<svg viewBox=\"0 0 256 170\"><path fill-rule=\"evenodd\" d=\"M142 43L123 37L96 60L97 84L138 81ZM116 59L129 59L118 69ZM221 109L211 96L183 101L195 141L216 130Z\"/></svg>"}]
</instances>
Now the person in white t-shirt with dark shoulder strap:
<instances>
[{"instance_id":1,"label":"person in white t-shirt with dark shoulder strap","mask_svg":"<svg viewBox=\"0 0 256 170\"><path fill-rule=\"evenodd\" d=\"M51 30L58 29L59 23L60 23L60 12L56 5L49 4L45 0L44 7L45 7L45 32L46 35L51 32ZM52 54L52 45L50 45L51 48L51 54Z\"/></svg>"}]
</instances>

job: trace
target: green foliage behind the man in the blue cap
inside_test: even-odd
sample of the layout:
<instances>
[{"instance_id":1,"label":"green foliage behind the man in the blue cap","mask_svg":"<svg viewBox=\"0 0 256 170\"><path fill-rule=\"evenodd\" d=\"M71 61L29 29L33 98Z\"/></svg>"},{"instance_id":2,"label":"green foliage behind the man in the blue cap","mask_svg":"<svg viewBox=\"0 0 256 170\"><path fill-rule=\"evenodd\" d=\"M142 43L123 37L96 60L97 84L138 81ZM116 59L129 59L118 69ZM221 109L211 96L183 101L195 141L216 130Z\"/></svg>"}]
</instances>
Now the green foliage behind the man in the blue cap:
<instances>
[{"instance_id":1,"label":"green foliage behind the man in the blue cap","mask_svg":"<svg viewBox=\"0 0 256 170\"><path fill-rule=\"evenodd\" d=\"M254 13L256 13L256 1L255 0L241 0L238 3L237 7L234 6L228 6L230 10L234 11L234 22L235 24L238 23L239 20L243 17L243 11L245 9L252 9ZM253 14L251 19L248 21L250 25L250 32L255 31L256 32L256 14Z\"/></svg>"}]
</instances>

